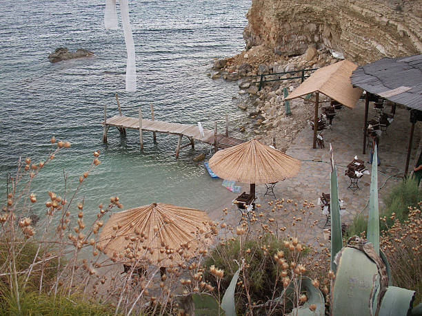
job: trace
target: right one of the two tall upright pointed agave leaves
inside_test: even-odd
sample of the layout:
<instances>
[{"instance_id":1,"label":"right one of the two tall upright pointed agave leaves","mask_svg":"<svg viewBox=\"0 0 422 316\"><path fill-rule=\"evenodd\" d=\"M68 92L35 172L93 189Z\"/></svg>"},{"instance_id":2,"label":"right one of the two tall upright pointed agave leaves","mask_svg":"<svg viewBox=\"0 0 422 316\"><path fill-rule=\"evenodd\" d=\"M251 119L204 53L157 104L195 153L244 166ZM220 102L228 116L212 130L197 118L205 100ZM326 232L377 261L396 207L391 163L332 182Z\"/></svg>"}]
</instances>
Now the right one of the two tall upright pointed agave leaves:
<instances>
[{"instance_id":1,"label":"right one of the two tall upright pointed agave leaves","mask_svg":"<svg viewBox=\"0 0 422 316\"><path fill-rule=\"evenodd\" d=\"M370 189L370 210L368 219L368 242L372 242L375 252L379 254L379 210L378 210L378 154L376 145L372 159L372 175Z\"/></svg>"}]
</instances>

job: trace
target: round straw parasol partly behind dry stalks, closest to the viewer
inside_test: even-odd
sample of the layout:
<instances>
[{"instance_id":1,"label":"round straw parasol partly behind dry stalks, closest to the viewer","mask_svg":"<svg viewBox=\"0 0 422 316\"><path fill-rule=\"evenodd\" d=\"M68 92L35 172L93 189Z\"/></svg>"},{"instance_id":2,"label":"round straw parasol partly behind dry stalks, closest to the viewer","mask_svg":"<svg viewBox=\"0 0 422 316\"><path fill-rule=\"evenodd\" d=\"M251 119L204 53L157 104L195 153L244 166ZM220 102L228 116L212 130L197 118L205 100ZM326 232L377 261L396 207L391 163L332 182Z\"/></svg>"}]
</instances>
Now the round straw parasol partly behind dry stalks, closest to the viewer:
<instances>
[{"instance_id":1,"label":"round straw parasol partly behind dry stalks, closest to the viewer","mask_svg":"<svg viewBox=\"0 0 422 316\"><path fill-rule=\"evenodd\" d=\"M169 267L203 253L216 233L205 211L152 203L112 214L99 246L113 261Z\"/></svg>"}]
</instances>

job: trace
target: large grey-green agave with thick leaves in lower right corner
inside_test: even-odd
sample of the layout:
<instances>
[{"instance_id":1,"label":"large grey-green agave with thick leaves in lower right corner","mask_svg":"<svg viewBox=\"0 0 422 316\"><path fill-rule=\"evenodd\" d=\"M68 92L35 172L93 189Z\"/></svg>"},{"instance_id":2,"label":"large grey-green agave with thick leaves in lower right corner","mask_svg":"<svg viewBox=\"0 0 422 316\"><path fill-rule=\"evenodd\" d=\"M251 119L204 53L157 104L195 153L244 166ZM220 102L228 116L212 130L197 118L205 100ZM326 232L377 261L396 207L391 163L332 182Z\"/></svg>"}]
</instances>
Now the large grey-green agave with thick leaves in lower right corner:
<instances>
[{"instance_id":1,"label":"large grey-green agave with thick leaves in lower right corner","mask_svg":"<svg viewBox=\"0 0 422 316\"><path fill-rule=\"evenodd\" d=\"M376 146L374 147L374 161L377 161ZM385 255L379 249L377 173L378 167L374 163L372 164L370 187L368 242L361 240L355 245L348 244L339 251L334 260L336 277L331 289L332 315L405 316L421 314L421 304L412 310L414 291L391 286L390 266ZM336 193L335 191L334 193ZM332 225L332 229L341 231L338 226ZM332 233L332 239L338 235L339 231ZM333 247L334 240L332 240Z\"/></svg>"}]
</instances>

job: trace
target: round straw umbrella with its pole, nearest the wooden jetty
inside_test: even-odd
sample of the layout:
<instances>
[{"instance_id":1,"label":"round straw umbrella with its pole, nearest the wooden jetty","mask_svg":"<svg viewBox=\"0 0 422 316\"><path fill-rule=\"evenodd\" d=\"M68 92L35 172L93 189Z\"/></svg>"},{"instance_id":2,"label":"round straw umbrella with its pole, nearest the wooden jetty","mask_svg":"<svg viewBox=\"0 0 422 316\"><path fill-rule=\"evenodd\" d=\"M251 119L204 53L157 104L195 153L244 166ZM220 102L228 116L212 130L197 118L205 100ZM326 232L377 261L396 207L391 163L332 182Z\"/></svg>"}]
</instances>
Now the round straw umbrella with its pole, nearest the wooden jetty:
<instances>
[{"instance_id":1,"label":"round straw umbrella with its pole, nearest the wooden jetty","mask_svg":"<svg viewBox=\"0 0 422 316\"><path fill-rule=\"evenodd\" d=\"M255 139L217 151L208 162L219 178L249 183L253 197L255 185L296 176L300 165L299 160Z\"/></svg>"}]
</instances>

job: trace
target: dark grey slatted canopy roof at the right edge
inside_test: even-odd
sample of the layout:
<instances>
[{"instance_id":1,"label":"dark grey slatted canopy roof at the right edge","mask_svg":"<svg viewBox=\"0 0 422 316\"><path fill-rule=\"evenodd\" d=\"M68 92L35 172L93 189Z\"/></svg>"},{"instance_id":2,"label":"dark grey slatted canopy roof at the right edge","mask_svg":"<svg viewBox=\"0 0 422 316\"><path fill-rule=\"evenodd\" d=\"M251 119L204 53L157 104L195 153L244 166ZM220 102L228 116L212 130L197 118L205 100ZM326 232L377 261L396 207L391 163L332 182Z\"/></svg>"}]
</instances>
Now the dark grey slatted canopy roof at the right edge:
<instances>
[{"instance_id":1,"label":"dark grey slatted canopy roof at the right edge","mask_svg":"<svg viewBox=\"0 0 422 316\"><path fill-rule=\"evenodd\" d=\"M372 94L422 110L422 54L385 57L356 68L351 79Z\"/></svg>"}]
</instances>

